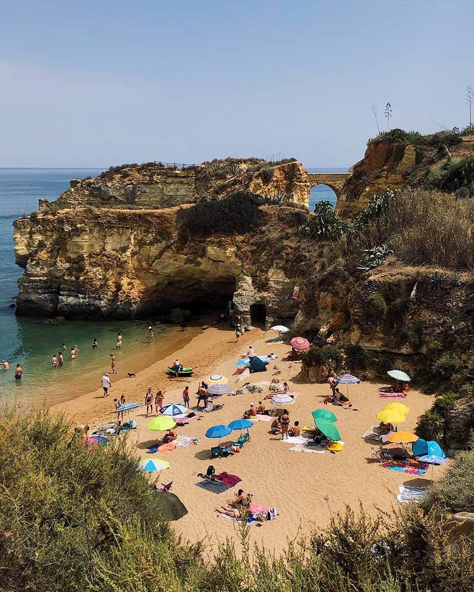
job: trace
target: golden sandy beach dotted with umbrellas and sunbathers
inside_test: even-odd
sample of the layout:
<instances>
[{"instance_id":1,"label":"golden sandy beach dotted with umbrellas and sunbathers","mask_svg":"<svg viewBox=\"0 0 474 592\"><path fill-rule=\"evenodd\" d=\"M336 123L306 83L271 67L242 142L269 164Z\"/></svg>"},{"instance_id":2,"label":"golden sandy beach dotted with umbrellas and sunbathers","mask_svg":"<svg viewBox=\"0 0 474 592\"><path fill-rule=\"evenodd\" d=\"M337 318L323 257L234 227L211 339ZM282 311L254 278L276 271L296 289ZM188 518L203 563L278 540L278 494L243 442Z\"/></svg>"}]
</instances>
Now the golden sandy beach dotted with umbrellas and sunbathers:
<instances>
[{"instance_id":1,"label":"golden sandy beach dotted with umbrellas and sunbathers","mask_svg":"<svg viewBox=\"0 0 474 592\"><path fill-rule=\"evenodd\" d=\"M329 393L328 384L300 384L297 379L300 362L281 360L289 352L289 346L284 343L265 343L274 336L273 332L254 329L235 343L231 329L211 327L198 332L181 349L167 355L164 361L155 362L137 373L136 378L126 377L126 372L133 369L127 369L123 363L121 374L111 377L113 388L109 397L103 398L102 389L97 388L94 392L56 405L53 410L62 410L68 417L73 417L75 423L87 423L94 429L114 420L113 400L121 394L125 395L127 402L143 403L145 392L151 386L153 392L158 388L164 390L165 404L182 403L182 390L187 384L190 387L192 409L196 406L195 393L199 381L217 372L228 377L229 385L234 389L243 382L271 381L272 378L289 382L290 389L300 393L295 403L289 407L291 424L294 420L299 420L300 426L312 424L311 411L318 407L333 411L344 442L341 452L331 454L326 451L320 454L290 451L292 445L281 442L280 436L270 433L270 422L256 422L250 430L250 442L246 443L239 454L217 459L211 459L210 455L210 447L216 444L216 440L206 438L206 430L215 424L228 424L242 417L249 403L253 401L257 404L259 398L268 394L267 391L261 395L223 395L220 402L224 407L221 410L212 413L197 412L197 417L189 424L177 427L178 434L200 437L201 441L197 445L165 453L148 454L147 447L155 442L159 433L146 428L151 416L145 416L145 408L140 407L130 413L138 424L138 429L129 435L130 445L136 448L140 458L161 458L170 463L170 468L159 475L158 483L172 481L172 491L188 509L187 516L174 523L175 530L191 541L207 538L211 546L228 536L237 538L236 523L219 517L214 509L231 499L239 487L252 493L255 503L277 509L279 516L276 520L262 523L262 528L251 526L250 540L263 542L267 549L278 553L286 546L287 539L302 536L313 527L325 526L331 513L344 511L347 504L357 510L361 502L367 512L374 514L377 509L390 510L392 506L398 505L396 494L400 484L422 487L430 485L433 474L431 467L421 477L382 468L378 462L373 462L371 444L364 442L361 436L369 426L377 425L377 411L382 410L386 404L397 401L410 408L406 422L399 429L413 430L417 417L431 406L431 397L409 390L408 397L403 401L382 399L377 395L379 385L362 382L349 386L350 399L358 411L331 405L324 407L322 401ZM256 355L274 352L278 359L274 363L270 362L267 372L251 374L238 383L238 377L233 376L236 370L233 364L246 352L249 345L253 346ZM175 358L180 359L183 365L194 367L192 378L175 379L166 376L166 366ZM275 375L276 372L281 374ZM267 409L270 408L270 401L266 403ZM233 432L229 439L236 440L238 435L239 432ZM210 464L214 465L216 472L227 471L238 475L242 479L241 484L221 493L198 487L196 484L201 480L197 474L205 473ZM435 467L434 477L439 477L442 471L442 468ZM156 475L150 474L150 481L155 481Z\"/></svg>"}]
</instances>

